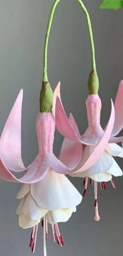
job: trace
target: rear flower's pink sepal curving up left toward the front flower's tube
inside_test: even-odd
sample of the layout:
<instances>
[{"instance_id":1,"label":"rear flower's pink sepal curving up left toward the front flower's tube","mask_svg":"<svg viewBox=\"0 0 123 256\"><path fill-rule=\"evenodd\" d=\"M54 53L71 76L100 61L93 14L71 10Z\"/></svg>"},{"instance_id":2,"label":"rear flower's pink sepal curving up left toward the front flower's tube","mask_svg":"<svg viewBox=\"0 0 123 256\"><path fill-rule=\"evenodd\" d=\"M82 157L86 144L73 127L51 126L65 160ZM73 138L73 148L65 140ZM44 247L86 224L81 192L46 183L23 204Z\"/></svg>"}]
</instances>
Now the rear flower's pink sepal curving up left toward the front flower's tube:
<instances>
[{"instance_id":1,"label":"rear flower's pink sepal curving up left toward the front flower's tube","mask_svg":"<svg viewBox=\"0 0 123 256\"><path fill-rule=\"evenodd\" d=\"M71 126L71 123L69 122L67 115L64 111L64 108L62 106L62 103L59 99L59 97L56 98L56 127L57 130L66 138L68 138L71 141L83 143L85 145L94 145L97 143L99 138L95 138L94 136L89 136L89 133L86 132L82 136L80 136L80 133L76 134L73 127ZM87 135L87 136L85 136Z\"/></svg>"}]
</instances>

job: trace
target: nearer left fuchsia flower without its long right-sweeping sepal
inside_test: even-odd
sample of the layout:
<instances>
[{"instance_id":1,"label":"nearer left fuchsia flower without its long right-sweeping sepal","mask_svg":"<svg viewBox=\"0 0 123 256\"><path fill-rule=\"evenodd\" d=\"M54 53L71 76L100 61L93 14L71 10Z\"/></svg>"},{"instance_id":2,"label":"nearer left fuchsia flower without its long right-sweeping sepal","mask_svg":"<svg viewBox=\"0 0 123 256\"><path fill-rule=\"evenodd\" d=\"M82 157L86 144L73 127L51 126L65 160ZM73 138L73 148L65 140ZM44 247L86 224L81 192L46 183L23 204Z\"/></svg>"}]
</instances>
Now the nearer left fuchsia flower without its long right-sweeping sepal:
<instances>
[{"instance_id":1,"label":"nearer left fuchsia flower without its long right-sweeping sepal","mask_svg":"<svg viewBox=\"0 0 123 256\"><path fill-rule=\"evenodd\" d=\"M57 87L54 92L54 113ZM35 249L38 224L44 219L44 243L45 233L48 238L47 223L52 225L54 241L64 245L63 236L60 235L57 222L67 221L76 206L81 203L82 196L71 184L62 172L69 170L53 154L53 140L55 131L55 119L52 113L39 113L36 121L39 153L33 163L24 167L21 159L21 108L23 90L20 91L15 104L9 114L0 139L0 178L24 183L17 194L21 199L17 214L19 225L23 229L33 227L30 247ZM77 166L81 159L81 145L75 148L72 168ZM78 151L79 149L79 151ZM69 159L68 159L69 162ZM55 170L57 169L57 172ZM63 170L62 170L63 169ZM26 172L17 179L9 170L14 172ZM60 173L60 174L59 174ZM45 253L45 244L44 244ZM45 253L46 255L46 253Z\"/></svg>"}]
</instances>

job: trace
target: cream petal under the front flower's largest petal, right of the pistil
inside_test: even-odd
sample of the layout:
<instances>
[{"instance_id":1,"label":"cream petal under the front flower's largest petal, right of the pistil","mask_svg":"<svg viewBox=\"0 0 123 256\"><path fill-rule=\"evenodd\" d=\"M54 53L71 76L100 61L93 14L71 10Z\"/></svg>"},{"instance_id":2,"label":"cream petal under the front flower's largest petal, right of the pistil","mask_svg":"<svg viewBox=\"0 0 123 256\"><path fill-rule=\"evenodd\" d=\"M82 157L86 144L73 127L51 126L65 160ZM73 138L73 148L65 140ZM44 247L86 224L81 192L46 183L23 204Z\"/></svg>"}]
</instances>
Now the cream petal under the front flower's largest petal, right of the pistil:
<instances>
[{"instance_id":1,"label":"cream petal under the front flower's largest petal, right of the pistil","mask_svg":"<svg viewBox=\"0 0 123 256\"><path fill-rule=\"evenodd\" d=\"M46 214L48 223L55 224L57 222L66 222L71 217L73 211L70 208L59 209L54 211L49 211Z\"/></svg>"}]
</instances>

